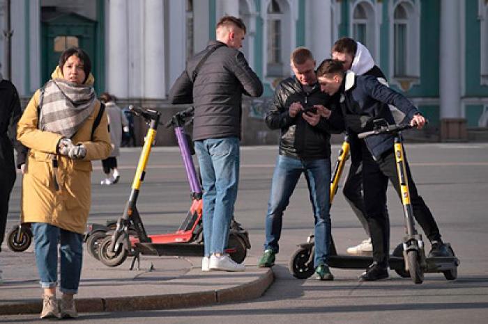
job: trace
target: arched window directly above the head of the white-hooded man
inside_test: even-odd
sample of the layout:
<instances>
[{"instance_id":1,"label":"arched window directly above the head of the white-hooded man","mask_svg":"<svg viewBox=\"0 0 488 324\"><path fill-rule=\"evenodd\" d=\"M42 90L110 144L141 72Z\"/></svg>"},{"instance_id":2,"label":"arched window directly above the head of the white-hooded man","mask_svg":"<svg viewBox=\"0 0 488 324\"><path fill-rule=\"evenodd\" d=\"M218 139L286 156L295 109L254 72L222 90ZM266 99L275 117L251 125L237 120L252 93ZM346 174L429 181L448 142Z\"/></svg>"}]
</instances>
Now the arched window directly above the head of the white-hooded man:
<instances>
[{"instance_id":1,"label":"arched window directly above the head of the white-hooded man","mask_svg":"<svg viewBox=\"0 0 488 324\"><path fill-rule=\"evenodd\" d=\"M353 38L363 43L373 57L376 51L374 15L374 8L367 1L361 1L354 6L352 20Z\"/></svg>"}]
</instances>

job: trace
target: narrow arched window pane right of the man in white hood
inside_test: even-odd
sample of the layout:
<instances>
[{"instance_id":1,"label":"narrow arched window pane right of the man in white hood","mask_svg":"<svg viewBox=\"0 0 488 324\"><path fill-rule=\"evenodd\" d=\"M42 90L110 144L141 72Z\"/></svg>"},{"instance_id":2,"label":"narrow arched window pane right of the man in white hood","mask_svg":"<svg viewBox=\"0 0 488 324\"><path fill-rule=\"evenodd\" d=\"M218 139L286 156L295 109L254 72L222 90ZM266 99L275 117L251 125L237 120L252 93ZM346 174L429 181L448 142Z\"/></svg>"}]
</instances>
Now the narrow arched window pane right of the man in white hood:
<instances>
[{"instance_id":1,"label":"narrow arched window pane right of the man in white hood","mask_svg":"<svg viewBox=\"0 0 488 324\"><path fill-rule=\"evenodd\" d=\"M406 76L406 30L409 16L402 4L393 12L393 76Z\"/></svg>"}]
</instances>

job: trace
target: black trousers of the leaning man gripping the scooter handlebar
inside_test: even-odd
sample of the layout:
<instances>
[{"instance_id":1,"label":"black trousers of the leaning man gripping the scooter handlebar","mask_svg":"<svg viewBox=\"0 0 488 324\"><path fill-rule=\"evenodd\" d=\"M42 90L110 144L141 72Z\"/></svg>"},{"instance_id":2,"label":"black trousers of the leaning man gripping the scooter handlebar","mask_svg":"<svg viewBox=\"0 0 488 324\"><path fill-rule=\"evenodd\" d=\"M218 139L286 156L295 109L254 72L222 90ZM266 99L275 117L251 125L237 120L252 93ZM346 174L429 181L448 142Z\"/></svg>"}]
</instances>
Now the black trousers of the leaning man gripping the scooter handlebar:
<instances>
[{"instance_id":1,"label":"black trousers of the leaning man gripping the scooter handlebar","mask_svg":"<svg viewBox=\"0 0 488 324\"><path fill-rule=\"evenodd\" d=\"M386 212L386 188L390 179L393 188L401 201L401 191L397 173L397 163L393 149L385 152L377 161L374 161L369 150L363 143L363 191L364 202L373 245L373 261L386 264L390 245L390 221ZM409 163L405 156L406 176L409 182L410 200L413 216L424 230L430 241L441 239L439 227L429 207L418 195L417 187L413 181Z\"/></svg>"}]
</instances>

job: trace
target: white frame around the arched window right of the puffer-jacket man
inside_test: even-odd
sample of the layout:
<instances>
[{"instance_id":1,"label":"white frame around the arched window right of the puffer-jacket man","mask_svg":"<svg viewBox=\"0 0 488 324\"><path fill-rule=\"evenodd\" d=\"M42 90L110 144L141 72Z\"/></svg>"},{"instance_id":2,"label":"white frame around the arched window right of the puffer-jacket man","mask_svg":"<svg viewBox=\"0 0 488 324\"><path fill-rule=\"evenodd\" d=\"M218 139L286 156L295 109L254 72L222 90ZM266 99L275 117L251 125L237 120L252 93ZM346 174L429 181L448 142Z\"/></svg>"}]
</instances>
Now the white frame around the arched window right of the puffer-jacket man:
<instances>
[{"instance_id":1,"label":"white frame around the arched window right of the puffer-jacket man","mask_svg":"<svg viewBox=\"0 0 488 324\"><path fill-rule=\"evenodd\" d=\"M291 74L291 67L289 65L289 56L291 51L296 46L296 21L298 20L298 2L293 0L277 0L282 10L281 27L282 37L281 42L281 58L282 58L282 75L268 75L268 6L270 0L261 1L261 18L263 19L263 76L268 83L273 87L277 79L287 77Z\"/></svg>"}]
</instances>

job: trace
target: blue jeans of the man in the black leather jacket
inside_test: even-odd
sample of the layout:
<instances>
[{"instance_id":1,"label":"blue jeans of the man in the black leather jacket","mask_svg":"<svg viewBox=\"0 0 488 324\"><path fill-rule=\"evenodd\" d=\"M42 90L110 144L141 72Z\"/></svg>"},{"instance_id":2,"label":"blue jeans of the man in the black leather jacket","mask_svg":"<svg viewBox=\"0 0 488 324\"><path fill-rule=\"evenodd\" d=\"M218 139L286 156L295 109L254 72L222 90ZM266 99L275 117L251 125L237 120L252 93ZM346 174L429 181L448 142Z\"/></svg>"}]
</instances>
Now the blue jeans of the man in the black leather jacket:
<instances>
[{"instance_id":1,"label":"blue jeans of the man in the black leather jacket","mask_svg":"<svg viewBox=\"0 0 488 324\"><path fill-rule=\"evenodd\" d=\"M314 266L317 267L327 264L330 245L330 159L303 161L278 155L271 181L264 249L276 253L279 251L283 211L287 208L302 173L305 173L307 179L314 213Z\"/></svg>"}]
</instances>

